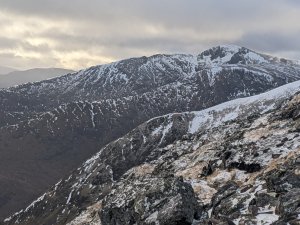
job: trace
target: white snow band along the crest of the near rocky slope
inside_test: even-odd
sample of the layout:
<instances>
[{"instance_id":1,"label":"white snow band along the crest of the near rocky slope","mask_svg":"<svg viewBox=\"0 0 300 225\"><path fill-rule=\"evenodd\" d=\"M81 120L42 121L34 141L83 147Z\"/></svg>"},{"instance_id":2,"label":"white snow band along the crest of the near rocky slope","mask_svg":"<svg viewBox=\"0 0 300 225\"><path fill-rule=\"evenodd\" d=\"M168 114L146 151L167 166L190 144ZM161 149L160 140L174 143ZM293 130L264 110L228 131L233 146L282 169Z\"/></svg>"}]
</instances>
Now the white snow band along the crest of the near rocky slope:
<instances>
[{"instance_id":1,"label":"white snow band along the crest of the near rocky slope","mask_svg":"<svg viewBox=\"0 0 300 225\"><path fill-rule=\"evenodd\" d=\"M152 127L150 134L151 136L159 137L160 141L158 143L161 144L166 135L172 131L173 116L182 114L185 118L192 118L188 123L189 129L187 133L195 134L201 130L218 127L239 117L245 117L253 113L263 114L274 110L282 103L282 101L288 100L299 91L300 81L296 81L259 95L235 99L205 110L185 113L170 113L165 116L155 117L145 122L145 124L156 123L156 121L164 121L162 124L159 124L159 126ZM121 139L122 138L119 138L114 142L118 142ZM92 166L95 165L95 162L101 157L103 150L95 154L83 164L86 172L90 171Z\"/></svg>"}]
</instances>

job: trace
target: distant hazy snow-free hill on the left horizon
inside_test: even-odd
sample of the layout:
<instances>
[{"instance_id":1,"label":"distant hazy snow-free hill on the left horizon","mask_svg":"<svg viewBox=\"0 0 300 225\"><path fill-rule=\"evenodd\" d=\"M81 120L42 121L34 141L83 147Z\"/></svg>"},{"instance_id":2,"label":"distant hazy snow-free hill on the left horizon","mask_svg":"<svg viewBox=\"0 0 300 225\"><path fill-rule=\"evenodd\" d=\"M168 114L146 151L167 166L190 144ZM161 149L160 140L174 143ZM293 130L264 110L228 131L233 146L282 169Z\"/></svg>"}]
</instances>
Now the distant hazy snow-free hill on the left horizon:
<instances>
[{"instance_id":1,"label":"distant hazy snow-free hill on the left horizon","mask_svg":"<svg viewBox=\"0 0 300 225\"><path fill-rule=\"evenodd\" d=\"M0 88L50 79L71 72L74 71L59 68L35 68L25 71L11 71L0 77Z\"/></svg>"}]
</instances>

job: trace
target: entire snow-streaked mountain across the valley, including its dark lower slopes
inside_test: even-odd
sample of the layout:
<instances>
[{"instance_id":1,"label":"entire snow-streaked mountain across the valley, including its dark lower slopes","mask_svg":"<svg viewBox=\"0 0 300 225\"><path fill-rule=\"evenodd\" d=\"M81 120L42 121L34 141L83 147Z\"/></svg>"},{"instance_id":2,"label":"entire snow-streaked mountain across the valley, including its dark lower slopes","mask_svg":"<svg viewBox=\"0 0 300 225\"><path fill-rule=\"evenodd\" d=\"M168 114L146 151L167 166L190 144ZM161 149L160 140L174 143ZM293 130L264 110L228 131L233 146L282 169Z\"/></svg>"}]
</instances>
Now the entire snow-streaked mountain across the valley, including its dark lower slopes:
<instances>
[{"instance_id":1,"label":"entire snow-streaked mountain across the valley, including its dark lower slopes","mask_svg":"<svg viewBox=\"0 0 300 225\"><path fill-rule=\"evenodd\" d=\"M226 45L195 56L127 59L0 90L0 218L153 117L199 111L299 78L293 61Z\"/></svg>"}]
</instances>

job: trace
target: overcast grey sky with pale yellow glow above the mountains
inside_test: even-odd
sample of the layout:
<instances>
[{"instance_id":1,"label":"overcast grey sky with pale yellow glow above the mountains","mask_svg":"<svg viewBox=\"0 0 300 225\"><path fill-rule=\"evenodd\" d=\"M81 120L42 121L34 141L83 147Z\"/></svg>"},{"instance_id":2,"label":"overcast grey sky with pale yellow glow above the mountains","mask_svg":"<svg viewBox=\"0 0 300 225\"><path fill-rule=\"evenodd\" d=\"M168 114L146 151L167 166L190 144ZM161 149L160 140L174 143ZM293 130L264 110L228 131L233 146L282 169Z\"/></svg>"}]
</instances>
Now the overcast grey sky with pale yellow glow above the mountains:
<instances>
[{"instance_id":1,"label":"overcast grey sky with pale yellow glow above the mountains","mask_svg":"<svg viewBox=\"0 0 300 225\"><path fill-rule=\"evenodd\" d=\"M300 59L299 0L1 0L0 65L85 68L237 44Z\"/></svg>"}]
</instances>

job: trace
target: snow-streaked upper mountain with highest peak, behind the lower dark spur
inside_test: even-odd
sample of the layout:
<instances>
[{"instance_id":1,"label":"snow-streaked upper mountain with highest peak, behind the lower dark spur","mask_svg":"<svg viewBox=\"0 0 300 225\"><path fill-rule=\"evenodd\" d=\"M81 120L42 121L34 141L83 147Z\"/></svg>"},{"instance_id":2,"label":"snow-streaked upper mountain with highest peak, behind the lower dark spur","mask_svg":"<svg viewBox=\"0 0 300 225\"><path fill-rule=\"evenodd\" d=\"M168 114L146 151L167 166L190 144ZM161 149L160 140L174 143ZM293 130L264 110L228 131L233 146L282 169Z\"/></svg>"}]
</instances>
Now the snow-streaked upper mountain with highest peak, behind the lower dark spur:
<instances>
[{"instance_id":1,"label":"snow-streaked upper mountain with highest peak, behind the lower dark spur","mask_svg":"<svg viewBox=\"0 0 300 225\"><path fill-rule=\"evenodd\" d=\"M181 96L193 92L194 99L201 97L203 107L209 107L296 81L299 70L292 61L230 45L196 56L132 58L0 91L0 125L64 103L140 96L157 89L164 89L165 95L178 89Z\"/></svg>"}]
</instances>

